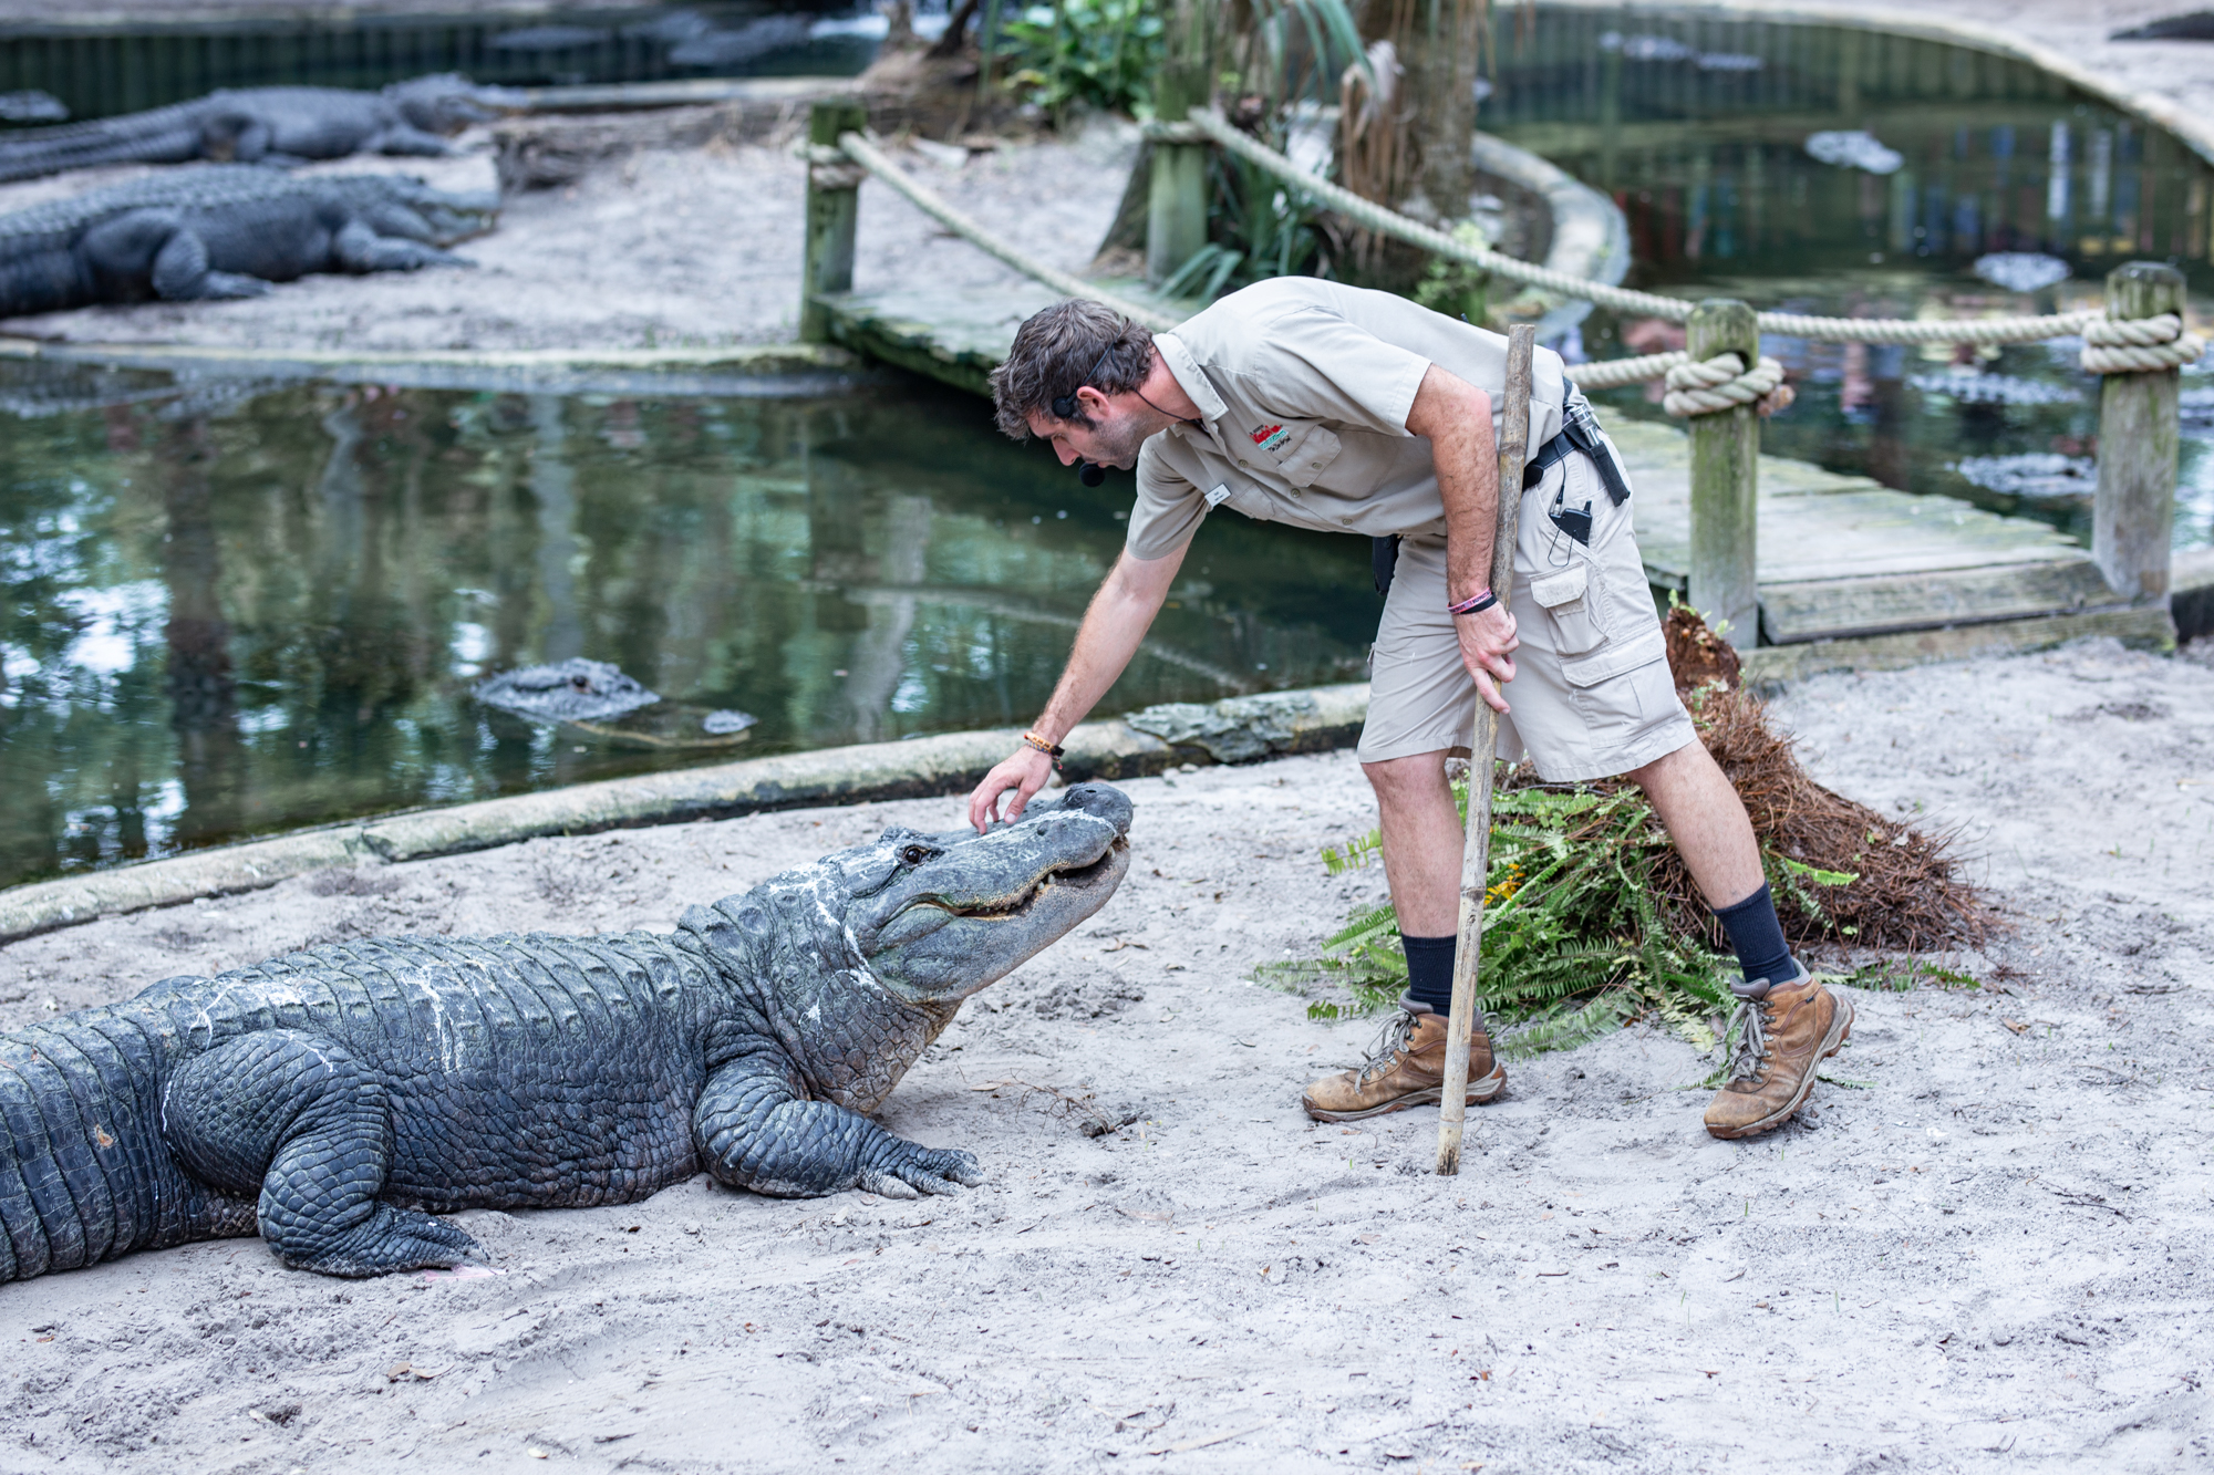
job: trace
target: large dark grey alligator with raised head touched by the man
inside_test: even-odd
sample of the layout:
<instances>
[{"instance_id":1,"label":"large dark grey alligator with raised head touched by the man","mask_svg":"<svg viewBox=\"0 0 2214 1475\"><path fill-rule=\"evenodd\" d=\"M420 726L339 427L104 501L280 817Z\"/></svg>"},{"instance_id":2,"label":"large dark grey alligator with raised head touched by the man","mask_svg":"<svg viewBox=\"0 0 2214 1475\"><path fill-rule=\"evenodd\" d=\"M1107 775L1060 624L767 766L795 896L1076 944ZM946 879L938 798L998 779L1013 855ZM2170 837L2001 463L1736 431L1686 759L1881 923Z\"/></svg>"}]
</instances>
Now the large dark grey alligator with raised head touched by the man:
<instances>
[{"instance_id":1,"label":"large dark grey alligator with raised head touched by the man","mask_svg":"<svg viewBox=\"0 0 2214 1475\"><path fill-rule=\"evenodd\" d=\"M332 943L0 1036L0 1280L261 1231L297 1269L458 1265L432 1218L731 1187L892 1198L976 1158L868 1112L961 1001L1096 912L1129 800L875 844L675 932Z\"/></svg>"}]
</instances>

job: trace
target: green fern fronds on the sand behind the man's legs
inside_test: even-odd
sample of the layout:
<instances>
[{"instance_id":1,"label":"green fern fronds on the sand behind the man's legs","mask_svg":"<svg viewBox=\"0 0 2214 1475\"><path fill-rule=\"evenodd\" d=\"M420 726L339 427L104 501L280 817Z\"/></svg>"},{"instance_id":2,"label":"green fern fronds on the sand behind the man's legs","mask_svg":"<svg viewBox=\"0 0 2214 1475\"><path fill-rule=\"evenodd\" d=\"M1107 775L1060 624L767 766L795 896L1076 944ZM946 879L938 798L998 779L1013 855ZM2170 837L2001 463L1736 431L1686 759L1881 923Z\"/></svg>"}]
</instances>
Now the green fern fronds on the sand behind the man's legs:
<instances>
[{"instance_id":1,"label":"green fern fronds on the sand behind the man's legs","mask_svg":"<svg viewBox=\"0 0 2214 1475\"><path fill-rule=\"evenodd\" d=\"M1461 813L1466 786L1455 786ZM1333 875L1366 866L1375 833L1322 853ZM1492 855L1483 899L1477 1003L1501 1054L1568 1050L1649 1017L1700 1050L1714 1021L1736 1005L1731 959L1663 921L1654 866L1667 831L1638 788L1506 788L1492 797ZM1851 877L1769 855L1769 875L1791 886L1842 886ZM1271 963L1262 981L1304 992L1331 983L1351 1003L1317 1001L1311 1019L1388 1008L1406 990L1390 904L1368 906L1322 943L1322 957Z\"/></svg>"}]
</instances>

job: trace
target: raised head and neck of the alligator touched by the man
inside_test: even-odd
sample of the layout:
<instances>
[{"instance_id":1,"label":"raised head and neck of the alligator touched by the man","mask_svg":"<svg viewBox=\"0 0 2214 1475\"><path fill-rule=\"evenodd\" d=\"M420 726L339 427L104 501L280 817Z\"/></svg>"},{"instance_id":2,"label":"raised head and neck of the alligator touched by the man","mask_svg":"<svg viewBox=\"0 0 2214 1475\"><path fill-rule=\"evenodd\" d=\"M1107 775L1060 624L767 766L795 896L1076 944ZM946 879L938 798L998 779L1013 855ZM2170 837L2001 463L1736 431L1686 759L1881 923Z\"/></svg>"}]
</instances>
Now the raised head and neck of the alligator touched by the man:
<instances>
[{"instance_id":1,"label":"raised head and neck of the alligator touched by the man","mask_svg":"<svg viewBox=\"0 0 2214 1475\"><path fill-rule=\"evenodd\" d=\"M1122 791L1072 784L985 835L894 826L684 926L751 955L810 1092L870 1112L963 999L1107 904L1129 870L1129 819Z\"/></svg>"}]
</instances>

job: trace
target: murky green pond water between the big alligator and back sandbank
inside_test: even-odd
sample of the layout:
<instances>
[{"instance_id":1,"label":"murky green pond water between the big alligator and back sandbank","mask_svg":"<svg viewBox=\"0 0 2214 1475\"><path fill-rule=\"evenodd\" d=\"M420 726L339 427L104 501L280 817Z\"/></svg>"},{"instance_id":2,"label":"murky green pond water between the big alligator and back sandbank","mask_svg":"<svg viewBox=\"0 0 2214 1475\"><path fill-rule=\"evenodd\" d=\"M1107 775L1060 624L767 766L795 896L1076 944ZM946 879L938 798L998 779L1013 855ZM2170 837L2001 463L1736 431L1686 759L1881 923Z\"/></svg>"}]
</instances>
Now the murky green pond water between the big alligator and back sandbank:
<instances>
[{"instance_id":1,"label":"murky green pond water between the big alligator and back sandbank","mask_svg":"<svg viewBox=\"0 0 2214 1475\"><path fill-rule=\"evenodd\" d=\"M1127 498L921 385L281 388L4 416L0 881L1030 722ZM1366 543L1215 523L1105 711L1359 675ZM472 698L569 656L664 700L596 733ZM717 709L757 724L711 746L697 718Z\"/></svg>"}]
</instances>

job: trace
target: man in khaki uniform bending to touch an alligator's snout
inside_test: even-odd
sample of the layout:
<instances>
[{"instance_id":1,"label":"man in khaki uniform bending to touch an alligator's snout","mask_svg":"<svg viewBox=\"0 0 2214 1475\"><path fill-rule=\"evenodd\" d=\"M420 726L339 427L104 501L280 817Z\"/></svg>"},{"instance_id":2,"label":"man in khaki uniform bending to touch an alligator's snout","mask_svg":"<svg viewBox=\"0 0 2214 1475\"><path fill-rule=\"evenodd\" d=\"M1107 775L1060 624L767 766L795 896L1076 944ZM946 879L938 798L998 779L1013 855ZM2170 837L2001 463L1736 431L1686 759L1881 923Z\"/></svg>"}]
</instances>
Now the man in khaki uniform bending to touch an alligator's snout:
<instances>
[{"instance_id":1,"label":"man in khaki uniform bending to touch an alligator's snout","mask_svg":"<svg viewBox=\"0 0 2214 1475\"><path fill-rule=\"evenodd\" d=\"M992 374L999 427L1052 441L1063 465L1136 467L1138 501L1061 684L1014 757L970 795L970 822L999 819L1010 791L1014 819L1038 793L1061 738L1129 664L1211 509L1390 538L1377 545L1388 594L1357 755L1377 795L1408 992L1366 1065L1306 1087L1308 1116L1357 1121L1441 1098L1461 873L1446 755L1468 744L1481 698L1499 711L1501 757L1528 751L1548 782L1618 773L1645 788L1745 972L1745 1045L1707 1130L1769 1132L1807 1101L1853 1008L1784 946L1745 804L1676 700L1630 485L1550 350L1537 352L1539 450L1521 489L1512 605L1486 589L1503 381L1503 337L1313 277L1244 288L1165 334L1094 301L1023 323ZM1506 1085L1481 1021L1468 1079L1470 1103Z\"/></svg>"}]
</instances>

